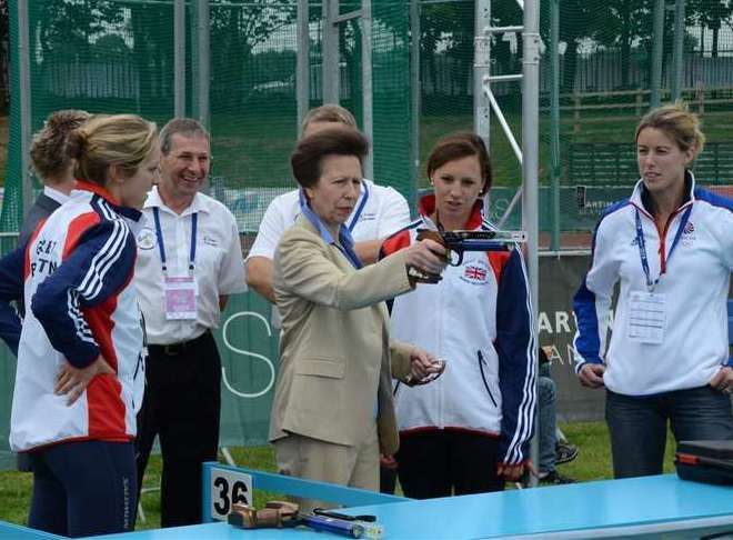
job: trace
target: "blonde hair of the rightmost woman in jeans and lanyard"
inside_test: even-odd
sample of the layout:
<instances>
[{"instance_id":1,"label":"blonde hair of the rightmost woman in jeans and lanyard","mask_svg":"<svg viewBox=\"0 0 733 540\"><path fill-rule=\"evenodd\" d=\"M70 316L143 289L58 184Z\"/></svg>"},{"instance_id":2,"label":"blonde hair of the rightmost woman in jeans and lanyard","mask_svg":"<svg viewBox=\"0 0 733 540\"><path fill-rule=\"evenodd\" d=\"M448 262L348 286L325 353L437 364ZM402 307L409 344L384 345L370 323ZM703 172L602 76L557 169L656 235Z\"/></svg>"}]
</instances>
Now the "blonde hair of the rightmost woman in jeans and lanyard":
<instances>
[{"instance_id":1,"label":"blonde hair of the rightmost woman in jeans and lanyard","mask_svg":"<svg viewBox=\"0 0 733 540\"><path fill-rule=\"evenodd\" d=\"M639 134L646 128L663 131L683 152L692 150L692 159L700 156L705 146L705 136L700 129L700 118L690 112L682 101L659 107L644 114L636 126L636 141Z\"/></svg>"}]
</instances>

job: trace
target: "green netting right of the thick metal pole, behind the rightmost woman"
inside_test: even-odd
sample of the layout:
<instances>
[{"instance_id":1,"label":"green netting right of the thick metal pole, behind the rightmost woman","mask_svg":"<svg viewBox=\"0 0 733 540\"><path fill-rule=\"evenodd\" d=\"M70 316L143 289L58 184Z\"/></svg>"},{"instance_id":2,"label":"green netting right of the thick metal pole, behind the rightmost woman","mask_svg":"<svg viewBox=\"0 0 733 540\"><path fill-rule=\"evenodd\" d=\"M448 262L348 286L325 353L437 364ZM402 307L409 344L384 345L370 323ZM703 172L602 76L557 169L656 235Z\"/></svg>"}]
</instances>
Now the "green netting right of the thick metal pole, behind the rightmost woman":
<instances>
[{"instance_id":1,"label":"green netting right of the thick metal pole, behind the rightmost woman","mask_svg":"<svg viewBox=\"0 0 733 540\"><path fill-rule=\"evenodd\" d=\"M671 100L674 38L683 39L682 98L700 113L709 144L694 171L699 183L733 194L733 4L689 0L682 33L674 29L674 4L664 11L657 36L661 64L653 60L653 1L559 1L560 9L560 229L588 231L612 188L639 178L634 130L650 108L653 67L661 68L661 102ZM551 2L542 3L542 36L550 39ZM550 142L550 66L542 77L541 144ZM549 183L549 153L542 181ZM615 190L619 191L617 189ZM550 210L550 206L545 207ZM580 216L586 219L579 220ZM588 237L585 237L588 238Z\"/></svg>"}]
</instances>

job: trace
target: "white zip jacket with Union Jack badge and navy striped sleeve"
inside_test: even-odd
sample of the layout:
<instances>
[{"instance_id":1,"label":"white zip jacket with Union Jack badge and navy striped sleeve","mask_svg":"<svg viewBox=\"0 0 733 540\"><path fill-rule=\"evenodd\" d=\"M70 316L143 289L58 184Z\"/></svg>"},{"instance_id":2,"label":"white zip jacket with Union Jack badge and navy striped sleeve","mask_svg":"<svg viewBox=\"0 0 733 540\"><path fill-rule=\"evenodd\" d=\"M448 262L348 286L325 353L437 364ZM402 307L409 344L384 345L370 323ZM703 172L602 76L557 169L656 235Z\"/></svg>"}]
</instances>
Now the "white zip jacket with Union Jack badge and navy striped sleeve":
<instances>
[{"instance_id":1,"label":"white zip jacket with Union Jack badge and navy striped sleeve","mask_svg":"<svg viewBox=\"0 0 733 540\"><path fill-rule=\"evenodd\" d=\"M382 256L406 248L418 229L434 229L434 197L421 200L421 218L384 241ZM494 229L476 206L468 229ZM519 249L465 252L438 284L421 284L394 299L391 333L446 361L435 382L398 383L402 436L462 430L500 437L504 463L529 454L534 421L534 334L529 286Z\"/></svg>"}]
</instances>

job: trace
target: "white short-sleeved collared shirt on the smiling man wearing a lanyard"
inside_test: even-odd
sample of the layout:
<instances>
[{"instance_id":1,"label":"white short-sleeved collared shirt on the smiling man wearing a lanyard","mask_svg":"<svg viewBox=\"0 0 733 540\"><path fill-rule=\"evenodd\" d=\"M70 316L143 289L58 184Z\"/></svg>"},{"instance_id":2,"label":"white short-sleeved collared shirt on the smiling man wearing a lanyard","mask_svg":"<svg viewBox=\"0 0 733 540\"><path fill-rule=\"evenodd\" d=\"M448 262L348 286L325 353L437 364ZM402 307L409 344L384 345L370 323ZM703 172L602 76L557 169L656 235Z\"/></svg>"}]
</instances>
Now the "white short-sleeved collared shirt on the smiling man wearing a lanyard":
<instances>
[{"instance_id":1,"label":"white short-sleeved collared shirt on the smiling man wearing a lanyard","mask_svg":"<svg viewBox=\"0 0 733 540\"><path fill-rule=\"evenodd\" d=\"M198 284L195 320L167 320L163 268L155 236L153 208L158 208L168 277L189 276L192 216L198 214L193 276ZM135 280L145 317L148 342L170 344L195 339L220 320L219 297L247 290L237 221L221 202L197 193L180 214L168 208L158 188L148 193L145 227L138 234Z\"/></svg>"}]
</instances>

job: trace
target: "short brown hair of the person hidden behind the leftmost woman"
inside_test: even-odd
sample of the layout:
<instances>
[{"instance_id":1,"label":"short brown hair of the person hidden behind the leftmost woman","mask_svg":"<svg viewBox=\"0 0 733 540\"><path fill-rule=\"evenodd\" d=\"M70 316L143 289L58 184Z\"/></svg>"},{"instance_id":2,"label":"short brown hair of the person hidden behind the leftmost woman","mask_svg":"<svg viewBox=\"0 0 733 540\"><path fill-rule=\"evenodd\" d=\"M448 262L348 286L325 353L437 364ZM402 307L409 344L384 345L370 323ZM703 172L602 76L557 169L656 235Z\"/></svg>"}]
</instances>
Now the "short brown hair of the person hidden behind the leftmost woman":
<instances>
[{"instance_id":1,"label":"short brown hair of the person hidden behind the leftmost woman","mask_svg":"<svg viewBox=\"0 0 733 540\"><path fill-rule=\"evenodd\" d=\"M87 111L62 110L52 112L43 128L33 136L30 158L36 173L43 183L58 183L71 164L67 152L67 138L89 119Z\"/></svg>"}]
</instances>

